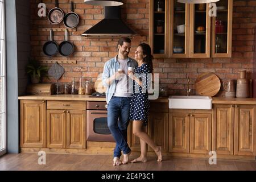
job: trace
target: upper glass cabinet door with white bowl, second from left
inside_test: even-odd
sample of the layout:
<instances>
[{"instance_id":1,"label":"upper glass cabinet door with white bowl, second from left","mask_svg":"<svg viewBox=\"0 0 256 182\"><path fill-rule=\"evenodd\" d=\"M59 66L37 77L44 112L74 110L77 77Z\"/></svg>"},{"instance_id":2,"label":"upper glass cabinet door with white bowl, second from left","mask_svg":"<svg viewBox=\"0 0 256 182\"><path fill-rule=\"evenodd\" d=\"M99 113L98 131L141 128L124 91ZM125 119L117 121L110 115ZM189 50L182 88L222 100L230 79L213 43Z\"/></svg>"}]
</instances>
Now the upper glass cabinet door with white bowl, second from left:
<instances>
[{"instance_id":1,"label":"upper glass cabinet door with white bowl, second from left","mask_svg":"<svg viewBox=\"0 0 256 182\"><path fill-rule=\"evenodd\" d=\"M189 4L171 0L170 57L189 57Z\"/></svg>"}]
</instances>

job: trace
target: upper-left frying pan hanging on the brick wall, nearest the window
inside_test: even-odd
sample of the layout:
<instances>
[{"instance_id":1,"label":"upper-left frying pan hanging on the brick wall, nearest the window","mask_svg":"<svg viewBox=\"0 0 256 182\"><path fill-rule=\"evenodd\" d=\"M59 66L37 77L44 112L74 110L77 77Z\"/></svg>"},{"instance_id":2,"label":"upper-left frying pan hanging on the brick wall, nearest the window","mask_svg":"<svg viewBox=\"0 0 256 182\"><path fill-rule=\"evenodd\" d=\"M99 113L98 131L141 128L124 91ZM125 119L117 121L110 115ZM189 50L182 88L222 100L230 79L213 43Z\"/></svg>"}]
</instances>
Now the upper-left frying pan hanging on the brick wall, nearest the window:
<instances>
[{"instance_id":1,"label":"upper-left frying pan hanging on the brick wall, nearest the window","mask_svg":"<svg viewBox=\"0 0 256 182\"><path fill-rule=\"evenodd\" d=\"M61 9L59 9L59 3L55 0L55 8L49 10L48 20L52 24L60 23L64 18L64 13Z\"/></svg>"}]
</instances>

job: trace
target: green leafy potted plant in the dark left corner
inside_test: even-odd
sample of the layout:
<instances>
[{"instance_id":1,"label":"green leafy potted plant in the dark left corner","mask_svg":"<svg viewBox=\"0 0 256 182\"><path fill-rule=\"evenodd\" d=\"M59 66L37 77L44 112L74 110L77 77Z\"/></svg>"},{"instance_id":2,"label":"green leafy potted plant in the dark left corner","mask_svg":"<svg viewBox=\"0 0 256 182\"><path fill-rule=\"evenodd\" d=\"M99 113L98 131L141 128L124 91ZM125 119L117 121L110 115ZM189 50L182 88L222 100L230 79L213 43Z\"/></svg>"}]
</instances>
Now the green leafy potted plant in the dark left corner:
<instances>
[{"instance_id":1,"label":"green leafy potted plant in the dark left corner","mask_svg":"<svg viewBox=\"0 0 256 182\"><path fill-rule=\"evenodd\" d=\"M27 73L30 75L32 84L38 84L41 77L46 75L48 67L40 65L39 61L30 59L27 64Z\"/></svg>"}]
</instances>

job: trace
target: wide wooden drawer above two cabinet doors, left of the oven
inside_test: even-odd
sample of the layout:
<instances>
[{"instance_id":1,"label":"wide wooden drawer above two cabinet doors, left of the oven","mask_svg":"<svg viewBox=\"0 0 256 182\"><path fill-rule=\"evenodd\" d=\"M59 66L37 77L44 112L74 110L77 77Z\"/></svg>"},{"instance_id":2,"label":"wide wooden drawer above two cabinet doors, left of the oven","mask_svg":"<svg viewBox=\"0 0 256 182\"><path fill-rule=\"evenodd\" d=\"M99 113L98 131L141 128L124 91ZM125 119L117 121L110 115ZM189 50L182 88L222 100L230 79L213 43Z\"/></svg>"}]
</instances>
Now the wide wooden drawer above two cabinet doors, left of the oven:
<instances>
[{"instance_id":1,"label":"wide wooden drawer above two cabinet doors, left of the oven","mask_svg":"<svg viewBox=\"0 0 256 182\"><path fill-rule=\"evenodd\" d=\"M85 110L85 101L47 101L47 109Z\"/></svg>"}]
</instances>

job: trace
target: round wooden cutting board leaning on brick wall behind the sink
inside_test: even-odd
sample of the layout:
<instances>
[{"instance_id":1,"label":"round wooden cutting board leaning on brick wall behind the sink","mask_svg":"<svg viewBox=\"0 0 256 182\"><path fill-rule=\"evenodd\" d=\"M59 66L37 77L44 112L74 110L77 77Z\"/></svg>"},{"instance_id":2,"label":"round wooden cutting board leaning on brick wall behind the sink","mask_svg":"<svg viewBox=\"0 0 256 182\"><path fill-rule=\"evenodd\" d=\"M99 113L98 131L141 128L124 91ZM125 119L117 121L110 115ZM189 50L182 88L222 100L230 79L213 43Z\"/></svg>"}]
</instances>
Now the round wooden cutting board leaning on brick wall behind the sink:
<instances>
[{"instance_id":1,"label":"round wooden cutting board leaning on brick wall behind the sink","mask_svg":"<svg viewBox=\"0 0 256 182\"><path fill-rule=\"evenodd\" d=\"M221 88L220 78L214 73L202 73L196 78L196 92L201 96L215 96Z\"/></svg>"}]
</instances>

